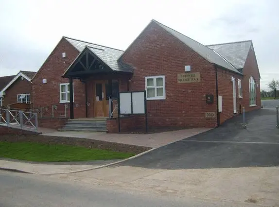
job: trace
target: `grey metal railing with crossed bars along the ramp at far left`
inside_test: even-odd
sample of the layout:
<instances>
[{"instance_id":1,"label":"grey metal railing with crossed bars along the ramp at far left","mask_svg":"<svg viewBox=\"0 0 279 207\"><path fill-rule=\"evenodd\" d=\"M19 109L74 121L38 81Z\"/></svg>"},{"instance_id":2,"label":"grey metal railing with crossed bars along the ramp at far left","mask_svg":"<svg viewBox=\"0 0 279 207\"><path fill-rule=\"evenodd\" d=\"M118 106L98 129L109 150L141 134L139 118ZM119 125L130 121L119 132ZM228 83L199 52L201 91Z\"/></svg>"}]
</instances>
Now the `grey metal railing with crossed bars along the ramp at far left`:
<instances>
[{"instance_id":1,"label":"grey metal railing with crossed bars along the ramp at far left","mask_svg":"<svg viewBox=\"0 0 279 207\"><path fill-rule=\"evenodd\" d=\"M30 111L0 108L0 124L36 131L38 129L38 115Z\"/></svg>"}]
</instances>

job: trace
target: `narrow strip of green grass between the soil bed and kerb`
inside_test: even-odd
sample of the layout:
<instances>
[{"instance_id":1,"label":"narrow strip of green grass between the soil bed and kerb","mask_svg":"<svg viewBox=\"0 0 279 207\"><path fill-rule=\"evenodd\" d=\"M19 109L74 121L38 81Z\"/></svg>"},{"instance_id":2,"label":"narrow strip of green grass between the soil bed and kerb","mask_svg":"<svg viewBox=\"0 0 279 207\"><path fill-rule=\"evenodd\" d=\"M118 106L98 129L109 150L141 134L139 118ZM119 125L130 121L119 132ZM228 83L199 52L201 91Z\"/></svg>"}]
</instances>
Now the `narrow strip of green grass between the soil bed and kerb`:
<instances>
[{"instance_id":1,"label":"narrow strip of green grass between the soil bed and kerb","mask_svg":"<svg viewBox=\"0 0 279 207\"><path fill-rule=\"evenodd\" d=\"M37 162L122 159L130 156L133 154L62 144L0 141L0 157Z\"/></svg>"}]
</instances>

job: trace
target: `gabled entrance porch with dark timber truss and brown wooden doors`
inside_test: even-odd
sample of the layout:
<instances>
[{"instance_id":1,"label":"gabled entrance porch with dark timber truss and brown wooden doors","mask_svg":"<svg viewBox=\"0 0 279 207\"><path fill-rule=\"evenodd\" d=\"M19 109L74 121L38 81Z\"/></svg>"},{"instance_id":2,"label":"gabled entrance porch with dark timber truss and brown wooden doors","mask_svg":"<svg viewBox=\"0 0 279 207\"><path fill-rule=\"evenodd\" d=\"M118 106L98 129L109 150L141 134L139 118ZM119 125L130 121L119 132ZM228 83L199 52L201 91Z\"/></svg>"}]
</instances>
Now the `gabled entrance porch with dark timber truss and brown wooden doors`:
<instances>
[{"instance_id":1,"label":"gabled entrance porch with dark timber truss and brown wooden doors","mask_svg":"<svg viewBox=\"0 0 279 207\"><path fill-rule=\"evenodd\" d=\"M122 51L103 46L86 46L66 70L62 77L69 78L70 83L70 120L74 120L74 110L78 110L74 109L73 79L85 83L84 118L95 118L96 121L96 118L103 120L118 116L116 106L119 92L129 91L129 79L133 74L131 67L118 62L121 54ZM74 93L77 93L76 89ZM86 121L88 123L90 119Z\"/></svg>"}]
</instances>

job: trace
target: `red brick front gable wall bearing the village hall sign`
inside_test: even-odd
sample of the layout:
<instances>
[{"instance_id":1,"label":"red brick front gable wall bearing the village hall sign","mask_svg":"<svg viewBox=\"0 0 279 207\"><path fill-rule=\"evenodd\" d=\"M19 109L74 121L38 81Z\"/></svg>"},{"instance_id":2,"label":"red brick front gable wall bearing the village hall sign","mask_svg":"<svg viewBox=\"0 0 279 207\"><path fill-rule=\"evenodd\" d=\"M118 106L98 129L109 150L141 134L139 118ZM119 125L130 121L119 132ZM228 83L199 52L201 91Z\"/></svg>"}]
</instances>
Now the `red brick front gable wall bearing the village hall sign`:
<instances>
[{"instance_id":1,"label":"red brick front gable wall bearing the village hall sign","mask_svg":"<svg viewBox=\"0 0 279 207\"><path fill-rule=\"evenodd\" d=\"M122 60L135 68L131 91L144 90L146 76L165 75L166 99L147 101L150 126L216 126L217 118L205 118L205 112L216 112L216 101L206 104L206 94L216 94L213 65L156 23L150 23ZM200 72L199 83L177 83L185 65Z\"/></svg>"}]
</instances>

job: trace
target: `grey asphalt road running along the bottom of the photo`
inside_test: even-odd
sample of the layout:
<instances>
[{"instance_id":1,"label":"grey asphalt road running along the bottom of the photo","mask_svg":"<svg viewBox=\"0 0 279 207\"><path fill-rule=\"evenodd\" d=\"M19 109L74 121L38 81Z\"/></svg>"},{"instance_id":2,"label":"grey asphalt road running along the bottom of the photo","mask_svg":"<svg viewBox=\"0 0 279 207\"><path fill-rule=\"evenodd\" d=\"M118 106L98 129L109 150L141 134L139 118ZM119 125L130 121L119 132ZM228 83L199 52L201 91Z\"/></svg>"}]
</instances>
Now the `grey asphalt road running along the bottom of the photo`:
<instances>
[{"instance_id":1,"label":"grey asphalt road running along the bottom of the photo","mask_svg":"<svg viewBox=\"0 0 279 207\"><path fill-rule=\"evenodd\" d=\"M0 172L0 207L247 207L61 179Z\"/></svg>"}]
</instances>

